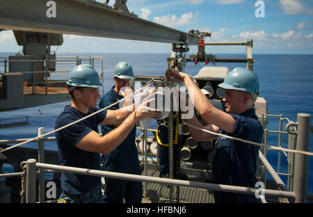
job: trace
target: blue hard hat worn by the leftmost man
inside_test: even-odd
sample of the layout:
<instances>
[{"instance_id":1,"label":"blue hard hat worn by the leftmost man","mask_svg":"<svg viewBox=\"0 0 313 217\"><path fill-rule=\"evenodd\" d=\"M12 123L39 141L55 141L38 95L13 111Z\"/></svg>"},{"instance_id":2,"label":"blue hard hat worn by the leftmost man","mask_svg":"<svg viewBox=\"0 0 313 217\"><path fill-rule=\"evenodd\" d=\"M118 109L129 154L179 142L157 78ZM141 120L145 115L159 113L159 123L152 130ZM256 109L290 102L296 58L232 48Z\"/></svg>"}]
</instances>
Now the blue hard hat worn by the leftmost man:
<instances>
[{"instance_id":1,"label":"blue hard hat worn by the leftmost man","mask_svg":"<svg viewBox=\"0 0 313 217\"><path fill-rule=\"evenodd\" d=\"M88 64L77 65L72 68L66 82L70 86L101 88L99 76L96 70Z\"/></svg>"}]
</instances>

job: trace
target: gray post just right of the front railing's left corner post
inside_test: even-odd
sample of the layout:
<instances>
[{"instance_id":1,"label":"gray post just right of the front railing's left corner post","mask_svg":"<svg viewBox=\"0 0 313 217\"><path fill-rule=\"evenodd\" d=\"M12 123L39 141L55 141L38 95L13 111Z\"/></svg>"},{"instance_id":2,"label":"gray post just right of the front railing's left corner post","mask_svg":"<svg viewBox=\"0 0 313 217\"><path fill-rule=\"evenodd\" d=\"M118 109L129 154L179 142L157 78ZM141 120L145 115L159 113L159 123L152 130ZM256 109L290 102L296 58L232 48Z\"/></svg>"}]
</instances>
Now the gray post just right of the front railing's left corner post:
<instances>
[{"instance_id":1,"label":"gray post just right of the front railing's left corner post","mask_svg":"<svg viewBox=\"0 0 313 217\"><path fill-rule=\"evenodd\" d=\"M44 128L38 128L38 136L44 134ZM45 139L39 138L38 140L38 162L45 163ZM45 170L39 169L38 177L38 195L39 202L45 202Z\"/></svg>"}]
</instances>

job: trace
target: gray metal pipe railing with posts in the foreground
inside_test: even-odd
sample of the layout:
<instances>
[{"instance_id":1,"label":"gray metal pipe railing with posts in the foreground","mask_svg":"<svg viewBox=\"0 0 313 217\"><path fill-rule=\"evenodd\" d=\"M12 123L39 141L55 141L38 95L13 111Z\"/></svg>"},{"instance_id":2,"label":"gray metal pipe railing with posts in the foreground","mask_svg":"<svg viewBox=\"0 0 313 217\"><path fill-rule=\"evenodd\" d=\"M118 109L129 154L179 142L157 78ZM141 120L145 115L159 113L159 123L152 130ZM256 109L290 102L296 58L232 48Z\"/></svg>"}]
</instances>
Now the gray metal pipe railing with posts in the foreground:
<instances>
[{"instance_id":1,"label":"gray metal pipe railing with posts in the foreground","mask_svg":"<svg viewBox=\"0 0 313 217\"><path fill-rule=\"evenodd\" d=\"M311 116L308 114L299 113L297 122L289 122L287 127L296 127L293 131L288 131L289 134L293 134L297 136L296 139L296 150L308 151L310 146L310 131L311 131ZM290 128L289 128L290 129ZM42 135L43 128L38 129L38 136ZM147 136L144 136L145 145L147 144ZM18 139L18 140L0 140L0 144L8 144L8 143L17 143L27 139ZM177 180L177 179L163 179L158 177L148 177L145 175L129 175L123 174L119 172L106 172L102 170L90 170L88 168L72 168L67 166L58 166L54 164L47 164L45 163L44 159L44 142L45 141L55 140L55 137L47 137L47 138L39 138L35 140L38 142L38 162L34 159L30 159L27 161L27 183L26 186L26 195L28 194L28 198L26 197L26 202L35 202L35 187L36 184L36 174L38 174L38 184L39 184L39 201L45 202L45 177L44 173L45 170L53 170L56 171L63 171L63 172L77 172L79 174L85 175L95 175L101 177L113 177L116 179L127 179L127 180L134 180L138 182L154 182L159 184L170 184L175 186L188 186L191 188L204 188L212 191L225 191L225 192L233 192L233 193L246 193L246 194L255 194L257 188L246 188L242 186L227 186L221 184L208 184L202 182L189 182L184 180ZM145 147L145 150L147 148ZM145 152L147 154L147 151ZM312 195L307 195L307 174L308 174L308 156L303 154L294 154L293 162L294 168L296 170L291 172L291 177L293 177L293 190L291 191L290 188L285 186L282 179L280 179L280 175L278 174L271 166L270 163L266 160L266 156L264 156L263 152L259 152L259 159L262 161L264 167L268 172L271 174L273 179L275 180L276 184L280 188L278 190L269 190L264 189L264 195L273 195L273 196L280 196L284 198L289 198L291 202L306 202L306 200L312 200ZM147 156L145 155L145 161L147 161ZM39 169L37 171L37 169ZM51 172L51 171L49 171ZM20 175L17 172L11 174L12 177ZM0 177L10 177L9 174L0 174Z\"/></svg>"}]
</instances>

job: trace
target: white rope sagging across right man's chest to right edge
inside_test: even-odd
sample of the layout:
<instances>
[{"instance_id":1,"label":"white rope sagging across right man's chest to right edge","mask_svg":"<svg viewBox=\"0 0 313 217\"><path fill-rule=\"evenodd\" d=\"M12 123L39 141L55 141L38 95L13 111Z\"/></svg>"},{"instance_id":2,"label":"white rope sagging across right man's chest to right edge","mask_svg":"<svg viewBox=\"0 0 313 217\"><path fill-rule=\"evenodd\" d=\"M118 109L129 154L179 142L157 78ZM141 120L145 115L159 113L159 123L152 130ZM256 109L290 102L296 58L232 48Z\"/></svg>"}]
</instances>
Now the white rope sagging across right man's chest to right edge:
<instances>
[{"instance_id":1,"label":"white rope sagging across right man's chest to right edge","mask_svg":"<svg viewBox=\"0 0 313 217\"><path fill-rule=\"evenodd\" d=\"M190 127L193 127L195 129L199 129L201 131L204 131L204 132L207 132L209 134L213 134L213 135L216 135L216 136L224 136L225 138L230 138L230 139L233 139L233 140L238 140L242 143L249 143L251 145L257 145L257 146L262 146L262 147L266 147L268 148L269 150L278 150L278 151L285 151L285 152L291 152L291 153L296 153L296 154L305 154L305 155L309 155L309 156L313 156L313 153L312 152L305 152L305 151L301 151L301 150L289 150L287 148L284 148L284 147L276 147L276 146L271 146L271 145L264 145L262 143L255 143L255 142L252 142L252 141L249 141L249 140L244 140L242 138L236 138L236 137L232 137L232 136L227 136L227 135L224 135L224 134L218 134L216 132L212 132L212 131L209 131L207 129L202 129L200 127L195 127L193 124L188 124L187 122L184 122L184 124L190 126Z\"/></svg>"}]
</instances>

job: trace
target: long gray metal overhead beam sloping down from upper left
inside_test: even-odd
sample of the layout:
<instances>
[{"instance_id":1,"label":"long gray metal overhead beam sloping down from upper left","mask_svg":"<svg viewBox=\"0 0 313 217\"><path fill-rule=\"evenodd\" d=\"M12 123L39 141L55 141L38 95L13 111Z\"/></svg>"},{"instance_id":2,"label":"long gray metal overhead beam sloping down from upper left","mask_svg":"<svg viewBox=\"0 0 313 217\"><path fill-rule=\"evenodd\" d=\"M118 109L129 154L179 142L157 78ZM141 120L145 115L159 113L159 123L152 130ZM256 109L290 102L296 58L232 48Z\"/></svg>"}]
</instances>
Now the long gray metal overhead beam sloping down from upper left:
<instances>
[{"instance_id":1,"label":"long gray metal overhead beam sloping down from upper left","mask_svg":"<svg viewBox=\"0 0 313 217\"><path fill-rule=\"evenodd\" d=\"M125 0L115 1L114 8L97 1L55 2L56 17L47 17L47 1L3 0L0 8L0 29L90 35L177 45L198 45L200 38L199 35L177 31L128 13ZM93 17L92 25L86 17Z\"/></svg>"}]
</instances>

